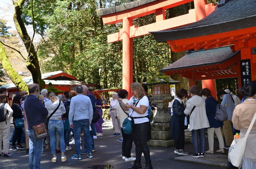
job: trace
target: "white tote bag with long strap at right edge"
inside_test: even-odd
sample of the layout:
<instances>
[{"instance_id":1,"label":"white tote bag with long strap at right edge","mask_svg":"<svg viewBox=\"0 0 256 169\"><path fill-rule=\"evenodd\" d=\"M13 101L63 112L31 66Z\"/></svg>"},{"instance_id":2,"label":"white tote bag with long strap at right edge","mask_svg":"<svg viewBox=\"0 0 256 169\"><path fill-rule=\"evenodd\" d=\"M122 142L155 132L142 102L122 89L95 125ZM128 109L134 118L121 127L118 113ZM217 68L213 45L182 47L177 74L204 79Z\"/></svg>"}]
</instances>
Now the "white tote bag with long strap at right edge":
<instances>
[{"instance_id":1,"label":"white tote bag with long strap at right edge","mask_svg":"<svg viewBox=\"0 0 256 169\"><path fill-rule=\"evenodd\" d=\"M244 138L236 139L234 136L234 140L231 143L229 150L228 150L228 161L232 163L235 167L239 167L242 164L242 160L244 157L244 151L246 146L247 137L252 129L252 126L256 119L256 112L253 116L252 122L244 136Z\"/></svg>"}]
</instances>

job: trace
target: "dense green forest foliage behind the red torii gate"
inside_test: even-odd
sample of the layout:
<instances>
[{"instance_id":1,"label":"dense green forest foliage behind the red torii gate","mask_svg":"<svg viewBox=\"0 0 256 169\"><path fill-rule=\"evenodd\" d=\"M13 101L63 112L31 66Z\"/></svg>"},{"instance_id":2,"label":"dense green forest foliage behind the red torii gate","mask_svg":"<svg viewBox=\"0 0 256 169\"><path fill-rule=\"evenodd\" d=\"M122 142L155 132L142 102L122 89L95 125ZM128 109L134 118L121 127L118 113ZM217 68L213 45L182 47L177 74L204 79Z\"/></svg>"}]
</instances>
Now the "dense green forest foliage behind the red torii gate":
<instances>
[{"instance_id":1,"label":"dense green forest foliage behind the red torii gate","mask_svg":"<svg viewBox=\"0 0 256 169\"><path fill-rule=\"evenodd\" d=\"M111 7L133 1L101 2ZM23 17L31 24L31 0L26 5ZM33 0L33 7L36 31L44 37L37 52L43 73L61 70L87 83L122 87L122 42L107 43L107 35L118 32L122 23L103 25L96 15L98 1ZM138 27L154 23L155 15L133 22ZM134 81L155 76L170 64L169 58L167 44L156 42L152 35L133 39Z\"/></svg>"}]
</instances>

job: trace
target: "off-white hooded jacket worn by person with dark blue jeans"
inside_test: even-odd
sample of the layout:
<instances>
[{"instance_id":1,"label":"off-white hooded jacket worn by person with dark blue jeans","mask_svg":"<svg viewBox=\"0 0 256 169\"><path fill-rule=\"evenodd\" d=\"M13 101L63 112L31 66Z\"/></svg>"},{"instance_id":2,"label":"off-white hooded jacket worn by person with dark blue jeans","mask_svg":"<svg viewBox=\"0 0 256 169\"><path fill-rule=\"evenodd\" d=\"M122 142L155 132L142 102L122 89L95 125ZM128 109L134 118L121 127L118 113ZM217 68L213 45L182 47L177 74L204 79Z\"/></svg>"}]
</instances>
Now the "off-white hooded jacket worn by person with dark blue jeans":
<instances>
[{"instance_id":1,"label":"off-white hooded jacket worn by person with dark blue jeans","mask_svg":"<svg viewBox=\"0 0 256 169\"><path fill-rule=\"evenodd\" d=\"M194 106L195 109L189 117L189 131L210 127L205 111L204 99L200 96L193 96L187 101L185 114L190 114Z\"/></svg>"}]
</instances>

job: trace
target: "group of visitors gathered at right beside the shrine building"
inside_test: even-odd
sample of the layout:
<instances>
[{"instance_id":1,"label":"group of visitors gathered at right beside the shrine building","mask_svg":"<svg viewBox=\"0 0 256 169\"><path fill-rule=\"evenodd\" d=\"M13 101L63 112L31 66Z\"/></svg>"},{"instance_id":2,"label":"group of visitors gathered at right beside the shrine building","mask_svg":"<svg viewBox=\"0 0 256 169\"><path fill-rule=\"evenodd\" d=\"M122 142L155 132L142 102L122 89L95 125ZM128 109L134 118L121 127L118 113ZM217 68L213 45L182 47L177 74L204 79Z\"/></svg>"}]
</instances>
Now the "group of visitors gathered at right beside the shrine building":
<instances>
[{"instance_id":1,"label":"group of visitors gathered at right beside the shrine building","mask_svg":"<svg viewBox=\"0 0 256 169\"><path fill-rule=\"evenodd\" d=\"M186 106L185 98L188 96ZM217 100L211 95L208 88L201 91L197 86L192 86L187 92L180 89L177 92L175 100L172 102L172 116L170 119L170 136L175 142L174 152L179 155L188 155L184 150L186 122L189 119L189 131L192 134L192 143L194 147L193 157L204 157L204 153L214 153L214 133L219 142L217 153L225 153L224 149L229 149L234 140L234 135L239 134L243 138L255 114L256 106L256 81L247 83L247 85L239 90L240 95L244 96L240 101L239 97L230 92L229 89L219 90L217 96L221 99L221 106L227 112L227 119L220 121L215 119ZM241 103L241 104L240 104ZM170 112L171 114L171 112ZM189 115L189 116L188 116ZM226 146L222 136L221 127L225 137ZM242 168L255 168L255 130L256 123L248 136L246 149L243 157ZM208 150L205 150L205 131L208 134ZM198 142L199 136L199 142ZM237 168L230 162L226 166L228 169Z\"/></svg>"}]
</instances>

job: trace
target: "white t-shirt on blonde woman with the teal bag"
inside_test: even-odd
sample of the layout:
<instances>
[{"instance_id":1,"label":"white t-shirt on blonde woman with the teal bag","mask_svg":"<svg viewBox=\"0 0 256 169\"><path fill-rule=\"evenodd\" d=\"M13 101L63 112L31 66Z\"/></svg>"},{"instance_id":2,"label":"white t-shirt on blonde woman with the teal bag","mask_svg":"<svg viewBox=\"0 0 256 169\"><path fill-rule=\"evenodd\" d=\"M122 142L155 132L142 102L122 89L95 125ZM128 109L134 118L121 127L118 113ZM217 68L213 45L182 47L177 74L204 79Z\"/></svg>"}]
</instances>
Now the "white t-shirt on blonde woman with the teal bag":
<instances>
[{"instance_id":1,"label":"white t-shirt on blonde woman with the teal bag","mask_svg":"<svg viewBox=\"0 0 256 169\"><path fill-rule=\"evenodd\" d=\"M138 102L136 107L140 107L140 105L144 105L144 106L147 106L147 107L149 106L149 101L148 101L147 96L143 96L140 100L138 98L135 98L135 96L132 96L127 103L133 105L133 102L136 102L135 104L137 104L137 102ZM134 104L134 106L135 106L135 104ZM136 111L133 111L133 112L132 111L133 111L132 109L129 109L129 116L132 115L132 117L144 117L144 116L148 115L148 109L145 111L144 114L139 114ZM148 122L148 121L149 121L149 119L147 117L134 119L135 124L145 123L145 122Z\"/></svg>"}]
</instances>

